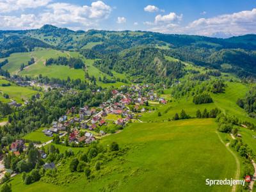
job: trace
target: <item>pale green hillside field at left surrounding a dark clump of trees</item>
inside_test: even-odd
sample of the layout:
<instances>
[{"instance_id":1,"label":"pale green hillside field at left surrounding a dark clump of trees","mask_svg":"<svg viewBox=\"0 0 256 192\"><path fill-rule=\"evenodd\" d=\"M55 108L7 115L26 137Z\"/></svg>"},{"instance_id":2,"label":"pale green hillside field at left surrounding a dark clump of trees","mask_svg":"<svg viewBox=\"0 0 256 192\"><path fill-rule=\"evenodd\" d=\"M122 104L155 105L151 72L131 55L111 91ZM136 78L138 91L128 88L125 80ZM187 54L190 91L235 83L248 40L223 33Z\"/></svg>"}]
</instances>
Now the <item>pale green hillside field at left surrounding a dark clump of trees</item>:
<instances>
[{"instance_id":1,"label":"pale green hillside field at left surrounding a dark clump of trees","mask_svg":"<svg viewBox=\"0 0 256 192\"><path fill-rule=\"evenodd\" d=\"M97 79L97 84L99 84L102 87L108 87L108 86L122 86L125 83L122 82L116 82L116 83L102 83L99 81L99 77L103 79L104 76L106 76L108 79L112 79L111 76L108 74L105 74L103 72L100 72L100 70L93 66L94 60L88 60L86 58L83 58L79 54L79 52L69 52L69 51L57 51L54 49L36 49L33 52L21 52L21 53L14 53L11 54L10 57L8 57L8 63L4 65L3 69L8 70L10 74L19 74L21 76L30 76L30 77L37 77L39 74L42 74L42 76L47 77L54 77L58 79L67 79L67 77L70 77L71 79L82 79L84 80L84 70L83 69L74 69L69 68L67 66L63 65L51 65L51 66L45 66L45 60L48 58L57 58L58 56L72 56L76 58L82 58L84 60L84 63L86 65L86 70L88 70L88 74L90 76L94 76ZM28 61L31 60L31 58L35 58L35 63L33 65L27 66L24 68L24 70L20 71L20 65L21 63L24 63L24 65L28 65ZM4 60L4 59L3 59ZM125 79L126 76L124 74L118 74L116 72L113 72L114 77Z\"/></svg>"}]
</instances>

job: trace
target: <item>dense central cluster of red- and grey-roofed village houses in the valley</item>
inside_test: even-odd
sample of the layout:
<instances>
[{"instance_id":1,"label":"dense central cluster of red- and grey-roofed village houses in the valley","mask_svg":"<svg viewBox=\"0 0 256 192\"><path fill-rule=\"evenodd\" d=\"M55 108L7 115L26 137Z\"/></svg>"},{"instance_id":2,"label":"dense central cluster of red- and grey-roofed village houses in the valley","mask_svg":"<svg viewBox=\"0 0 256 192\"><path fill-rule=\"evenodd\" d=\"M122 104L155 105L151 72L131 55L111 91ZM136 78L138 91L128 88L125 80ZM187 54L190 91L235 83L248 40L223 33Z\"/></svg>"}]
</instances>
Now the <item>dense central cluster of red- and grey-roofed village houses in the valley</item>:
<instances>
[{"instance_id":1,"label":"dense central cluster of red- and grey-roofed village houses in the valley","mask_svg":"<svg viewBox=\"0 0 256 192\"><path fill-rule=\"evenodd\" d=\"M124 129L129 122L141 122L141 113L151 112L148 102L166 104L166 100L157 97L154 90L145 92L149 86L132 85L126 93L112 90L112 98L100 104L98 108L70 108L66 115L52 122L52 127L44 129L45 136L54 134L63 137L68 134L69 143L90 144L106 134ZM65 143L65 141L62 141ZM79 145L81 146L81 145Z\"/></svg>"}]
</instances>

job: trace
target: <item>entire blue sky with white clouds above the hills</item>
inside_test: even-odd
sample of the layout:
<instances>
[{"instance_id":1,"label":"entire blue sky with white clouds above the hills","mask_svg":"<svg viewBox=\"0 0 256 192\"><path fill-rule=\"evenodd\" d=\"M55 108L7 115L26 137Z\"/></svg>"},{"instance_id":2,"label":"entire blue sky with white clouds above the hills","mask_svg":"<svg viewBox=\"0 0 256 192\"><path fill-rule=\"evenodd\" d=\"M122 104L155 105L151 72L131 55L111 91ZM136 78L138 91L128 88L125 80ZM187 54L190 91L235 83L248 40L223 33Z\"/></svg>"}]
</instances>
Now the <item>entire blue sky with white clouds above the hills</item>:
<instances>
[{"instance_id":1,"label":"entire blue sky with white clouds above the hills","mask_svg":"<svg viewBox=\"0 0 256 192\"><path fill-rule=\"evenodd\" d=\"M227 37L256 33L256 1L0 0L0 29L44 24Z\"/></svg>"}]
</instances>

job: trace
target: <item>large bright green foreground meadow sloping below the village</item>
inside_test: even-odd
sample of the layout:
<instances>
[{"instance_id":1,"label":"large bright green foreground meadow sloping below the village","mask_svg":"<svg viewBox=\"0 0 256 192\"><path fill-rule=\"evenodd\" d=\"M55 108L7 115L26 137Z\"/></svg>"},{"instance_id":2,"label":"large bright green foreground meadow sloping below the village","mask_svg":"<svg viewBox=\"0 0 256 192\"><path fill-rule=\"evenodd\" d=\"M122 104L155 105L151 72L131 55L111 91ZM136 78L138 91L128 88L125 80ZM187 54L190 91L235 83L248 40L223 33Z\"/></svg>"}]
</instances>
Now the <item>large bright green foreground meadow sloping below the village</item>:
<instances>
[{"instance_id":1,"label":"large bright green foreground meadow sloping below the village","mask_svg":"<svg viewBox=\"0 0 256 192\"><path fill-rule=\"evenodd\" d=\"M65 184L42 181L29 186L20 175L12 179L13 191L228 191L230 186L206 186L205 179L234 178L234 157L216 134L213 119L130 124L119 134L102 138L129 147L125 156L102 165L97 178L77 173ZM70 174L67 166L60 172ZM60 179L62 176L58 177ZM63 176L64 177L64 176ZM69 183L70 182L70 183Z\"/></svg>"}]
</instances>

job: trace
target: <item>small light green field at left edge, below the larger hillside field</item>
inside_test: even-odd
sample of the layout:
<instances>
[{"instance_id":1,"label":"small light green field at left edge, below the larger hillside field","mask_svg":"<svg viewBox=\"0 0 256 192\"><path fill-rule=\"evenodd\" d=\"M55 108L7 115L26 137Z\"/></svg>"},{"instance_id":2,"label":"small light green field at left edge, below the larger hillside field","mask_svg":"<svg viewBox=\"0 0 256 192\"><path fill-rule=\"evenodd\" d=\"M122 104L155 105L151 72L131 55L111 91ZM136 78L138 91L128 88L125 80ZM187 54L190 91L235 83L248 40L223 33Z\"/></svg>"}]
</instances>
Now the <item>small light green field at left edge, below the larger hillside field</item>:
<instances>
[{"instance_id":1,"label":"small light green field at left edge, below the larger hillside field","mask_svg":"<svg viewBox=\"0 0 256 192\"><path fill-rule=\"evenodd\" d=\"M0 84L2 83L9 83L9 81L0 78ZM32 95L35 95L38 92L32 90L32 88L17 86L11 83L11 86L0 86L0 93L0 100L2 102L10 102L11 99L13 99L19 103L23 103L24 100L28 100ZM9 99L5 99L3 93L8 94Z\"/></svg>"}]
</instances>

